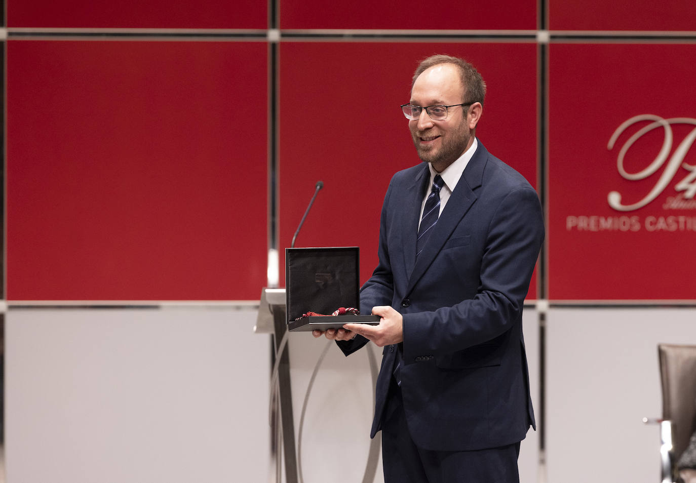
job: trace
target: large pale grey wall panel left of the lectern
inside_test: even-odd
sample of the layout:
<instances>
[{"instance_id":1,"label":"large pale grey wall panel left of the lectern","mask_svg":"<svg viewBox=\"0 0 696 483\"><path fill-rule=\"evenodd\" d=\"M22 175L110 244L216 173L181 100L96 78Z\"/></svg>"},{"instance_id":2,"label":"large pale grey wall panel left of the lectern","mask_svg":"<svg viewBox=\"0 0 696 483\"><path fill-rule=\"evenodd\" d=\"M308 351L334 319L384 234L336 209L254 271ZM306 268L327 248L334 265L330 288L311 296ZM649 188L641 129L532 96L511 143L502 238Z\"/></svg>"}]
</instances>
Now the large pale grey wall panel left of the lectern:
<instances>
[{"instance_id":1,"label":"large pale grey wall panel left of the lectern","mask_svg":"<svg viewBox=\"0 0 696 483\"><path fill-rule=\"evenodd\" d=\"M10 310L10 482L267 478L255 310Z\"/></svg>"}]
</instances>

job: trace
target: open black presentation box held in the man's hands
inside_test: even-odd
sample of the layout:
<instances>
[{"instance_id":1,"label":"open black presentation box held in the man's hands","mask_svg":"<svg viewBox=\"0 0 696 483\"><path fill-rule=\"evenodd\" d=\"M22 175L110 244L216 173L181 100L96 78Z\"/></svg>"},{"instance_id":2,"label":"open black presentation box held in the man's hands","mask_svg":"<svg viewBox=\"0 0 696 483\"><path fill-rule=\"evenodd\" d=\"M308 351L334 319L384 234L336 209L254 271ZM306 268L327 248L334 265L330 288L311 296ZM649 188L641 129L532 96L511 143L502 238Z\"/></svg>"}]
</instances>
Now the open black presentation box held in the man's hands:
<instances>
[{"instance_id":1,"label":"open black presentation box held in the man's hands","mask_svg":"<svg viewBox=\"0 0 696 483\"><path fill-rule=\"evenodd\" d=\"M285 248L285 297L290 331L325 331L348 322L379 324L379 315L335 315L341 307L360 308L360 248ZM307 312L329 317L302 317Z\"/></svg>"}]
</instances>

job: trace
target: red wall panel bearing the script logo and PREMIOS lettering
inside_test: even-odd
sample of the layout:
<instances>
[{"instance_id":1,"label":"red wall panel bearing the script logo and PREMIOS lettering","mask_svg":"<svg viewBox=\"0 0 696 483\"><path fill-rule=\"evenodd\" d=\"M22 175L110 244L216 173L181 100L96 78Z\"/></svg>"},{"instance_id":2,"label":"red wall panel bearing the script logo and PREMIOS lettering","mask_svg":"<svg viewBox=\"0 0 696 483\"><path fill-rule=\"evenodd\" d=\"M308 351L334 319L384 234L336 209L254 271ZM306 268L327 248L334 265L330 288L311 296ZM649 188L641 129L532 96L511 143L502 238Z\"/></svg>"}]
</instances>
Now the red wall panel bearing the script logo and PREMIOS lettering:
<instances>
[{"instance_id":1,"label":"red wall panel bearing the script logo and PREMIOS lettering","mask_svg":"<svg viewBox=\"0 0 696 483\"><path fill-rule=\"evenodd\" d=\"M695 56L551 45L549 298L694 298Z\"/></svg>"}]
</instances>

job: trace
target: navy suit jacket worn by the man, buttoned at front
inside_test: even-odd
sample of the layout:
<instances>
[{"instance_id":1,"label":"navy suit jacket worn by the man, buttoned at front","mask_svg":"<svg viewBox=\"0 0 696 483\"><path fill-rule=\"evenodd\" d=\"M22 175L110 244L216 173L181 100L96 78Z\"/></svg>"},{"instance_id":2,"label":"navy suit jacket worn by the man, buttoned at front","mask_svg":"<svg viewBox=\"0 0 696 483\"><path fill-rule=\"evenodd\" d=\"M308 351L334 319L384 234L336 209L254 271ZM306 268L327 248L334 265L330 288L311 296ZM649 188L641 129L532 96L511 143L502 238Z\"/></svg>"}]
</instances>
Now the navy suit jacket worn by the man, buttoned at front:
<instances>
[{"instance_id":1,"label":"navy suit jacket worn by the man, buttoned at front","mask_svg":"<svg viewBox=\"0 0 696 483\"><path fill-rule=\"evenodd\" d=\"M535 427L522 309L544 239L536 191L479 143L416 259L427 164L392 178L381 212L379 264L361 313L404 318L404 411L425 450L496 448ZM367 343L338 342L348 355ZM381 429L397 349L383 350L371 435Z\"/></svg>"}]
</instances>

